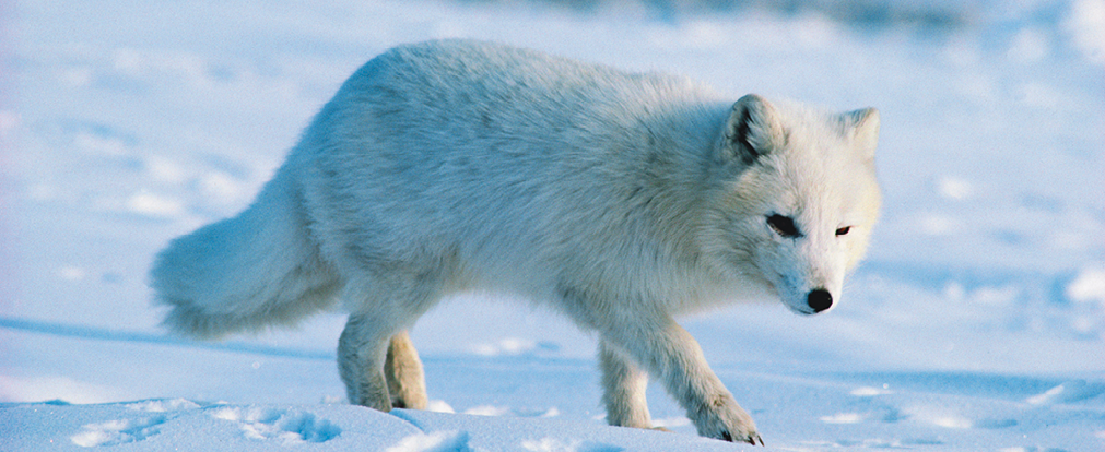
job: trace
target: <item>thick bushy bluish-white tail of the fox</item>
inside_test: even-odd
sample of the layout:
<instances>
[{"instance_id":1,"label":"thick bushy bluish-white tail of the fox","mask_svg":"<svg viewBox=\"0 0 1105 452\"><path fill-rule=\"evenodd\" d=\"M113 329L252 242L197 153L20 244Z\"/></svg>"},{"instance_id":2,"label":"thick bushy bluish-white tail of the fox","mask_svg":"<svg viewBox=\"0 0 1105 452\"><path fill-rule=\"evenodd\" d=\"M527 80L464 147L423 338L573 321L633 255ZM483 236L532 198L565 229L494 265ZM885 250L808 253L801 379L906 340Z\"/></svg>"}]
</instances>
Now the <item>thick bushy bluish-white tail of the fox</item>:
<instances>
[{"instance_id":1,"label":"thick bushy bluish-white tail of the fox","mask_svg":"<svg viewBox=\"0 0 1105 452\"><path fill-rule=\"evenodd\" d=\"M283 169L238 217L173 240L150 276L171 307L162 325L199 338L294 324L333 305L341 287Z\"/></svg>"}]
</instances>

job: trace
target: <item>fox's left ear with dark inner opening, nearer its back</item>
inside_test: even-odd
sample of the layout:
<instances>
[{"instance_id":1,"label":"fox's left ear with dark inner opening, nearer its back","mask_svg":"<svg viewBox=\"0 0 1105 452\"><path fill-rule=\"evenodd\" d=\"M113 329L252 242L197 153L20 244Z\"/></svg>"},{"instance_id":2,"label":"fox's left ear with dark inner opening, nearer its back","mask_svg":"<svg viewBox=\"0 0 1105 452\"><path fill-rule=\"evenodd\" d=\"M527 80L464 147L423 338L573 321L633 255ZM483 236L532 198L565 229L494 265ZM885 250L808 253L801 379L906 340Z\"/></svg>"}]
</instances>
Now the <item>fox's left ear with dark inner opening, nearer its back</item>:
<instances>
[{"instance_id":1,"label":"fox's left ear with dark inner opening, nearer its back","mask_svg":"<svg viewBox=\"0 0 1105 452\"><path fill-rule=\"evenodd\" d=\"M748 94L733 104L725 123L722 151L725 157L736 157L751 165L760 156L785 146L787 134L775 106L764 97Z\"/></svg>"}]
</instances>

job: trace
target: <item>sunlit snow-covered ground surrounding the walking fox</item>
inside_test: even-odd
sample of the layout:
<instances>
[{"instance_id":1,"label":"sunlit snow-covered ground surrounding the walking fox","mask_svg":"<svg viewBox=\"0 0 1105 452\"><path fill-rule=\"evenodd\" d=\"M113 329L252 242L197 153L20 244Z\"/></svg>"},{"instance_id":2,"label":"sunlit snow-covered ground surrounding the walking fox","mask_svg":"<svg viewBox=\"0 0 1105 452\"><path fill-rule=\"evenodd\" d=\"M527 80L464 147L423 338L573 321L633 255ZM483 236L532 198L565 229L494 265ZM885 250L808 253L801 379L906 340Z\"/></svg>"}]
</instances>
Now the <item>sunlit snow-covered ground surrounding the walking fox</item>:
<instances>
[{"instance_id":1,"label":"sunlit snow-covered ground surrounding the walking fox","mask_svg":"<svg viewBox=\"0 0 1105 452\"><path fill-rule=\"evenodd\" d=\"M684 322L769 449L1105 450L1105 3L504 3L0 2L0 450L740 449L659 388L674 433L604 427L593 338L509 301L412 332L438 412L340 403L338 314L158 329L154 253L244 207L365 61L446 36L880 108L885 210L843 304Z\"/></svg>"}]
</instances>

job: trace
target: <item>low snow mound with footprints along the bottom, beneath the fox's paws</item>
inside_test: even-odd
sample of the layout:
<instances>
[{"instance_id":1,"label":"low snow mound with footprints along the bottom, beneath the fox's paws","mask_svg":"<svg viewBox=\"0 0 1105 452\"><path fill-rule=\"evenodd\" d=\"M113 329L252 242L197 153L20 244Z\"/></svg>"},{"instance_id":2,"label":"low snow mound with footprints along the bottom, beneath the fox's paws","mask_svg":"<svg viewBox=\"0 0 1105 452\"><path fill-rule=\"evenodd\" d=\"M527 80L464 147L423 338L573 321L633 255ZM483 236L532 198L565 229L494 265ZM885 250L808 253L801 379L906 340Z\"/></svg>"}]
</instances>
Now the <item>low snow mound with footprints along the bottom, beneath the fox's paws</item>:
<instances>
[{"instance_id":1,"label":"low snow mound with footprints along the bottom, beneath the fox's paws","mask_svg":"<svg viewBox=\"0 0 1105 452\"><path fill-rule=\"evenodd\" d=\"M376 410L345 404L201 404L182 399L0 407L4 450L732 451L697 437L592 422ZM14 423L14 425L12 424ZM9 428L15 429L9 430ZM75 448L73 448L75 446ZM8 449L11 448L11 449Z\"/></svg>"}]
</instances>

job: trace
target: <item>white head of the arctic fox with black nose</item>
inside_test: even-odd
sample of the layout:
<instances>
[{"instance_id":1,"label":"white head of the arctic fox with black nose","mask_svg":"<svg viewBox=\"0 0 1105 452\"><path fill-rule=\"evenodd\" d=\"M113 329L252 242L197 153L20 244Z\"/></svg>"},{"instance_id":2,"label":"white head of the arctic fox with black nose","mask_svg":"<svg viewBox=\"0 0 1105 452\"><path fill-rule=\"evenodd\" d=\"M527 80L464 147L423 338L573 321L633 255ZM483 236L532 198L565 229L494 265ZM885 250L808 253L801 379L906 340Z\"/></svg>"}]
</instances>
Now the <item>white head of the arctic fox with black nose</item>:
<instances>
[{"instance_id":1,"label":"white head of the arctic fox with black nose","mask_svg":"<svg viewBox=\"0 0 1105 452\"><path fill-rule=\"evenodd\" d=\"M878 217L878 112L829 114L749 94L715 149L720 264L800 314L833 307Z\"/></svg>"}]
</instances>

